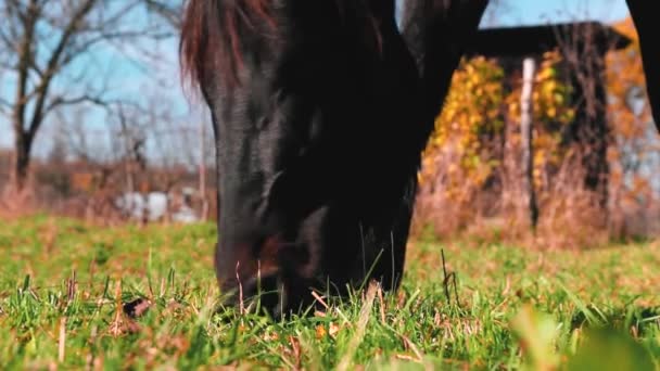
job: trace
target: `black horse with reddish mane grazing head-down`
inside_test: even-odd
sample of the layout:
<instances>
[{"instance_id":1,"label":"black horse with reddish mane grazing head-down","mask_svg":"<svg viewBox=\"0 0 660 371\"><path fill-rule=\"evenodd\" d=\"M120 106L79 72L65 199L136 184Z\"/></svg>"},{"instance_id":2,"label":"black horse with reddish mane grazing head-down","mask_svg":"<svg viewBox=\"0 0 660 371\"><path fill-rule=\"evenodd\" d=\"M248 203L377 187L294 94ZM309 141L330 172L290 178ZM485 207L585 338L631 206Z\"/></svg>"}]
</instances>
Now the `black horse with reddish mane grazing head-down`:
<instances>
[{"instance_id":1,"label":"black horse with reddish mane grazing head-down","mask_svg":"<svg viewBox=\"0 0 660 371\"><path fill-rule=\"evenodd\" d=\"M281 314L310 287L396 290L420 154L486 5L408 0L399 31L395 0L189 1L181 66L212 113L223 292Z\"/></svg>"}]
</instances>

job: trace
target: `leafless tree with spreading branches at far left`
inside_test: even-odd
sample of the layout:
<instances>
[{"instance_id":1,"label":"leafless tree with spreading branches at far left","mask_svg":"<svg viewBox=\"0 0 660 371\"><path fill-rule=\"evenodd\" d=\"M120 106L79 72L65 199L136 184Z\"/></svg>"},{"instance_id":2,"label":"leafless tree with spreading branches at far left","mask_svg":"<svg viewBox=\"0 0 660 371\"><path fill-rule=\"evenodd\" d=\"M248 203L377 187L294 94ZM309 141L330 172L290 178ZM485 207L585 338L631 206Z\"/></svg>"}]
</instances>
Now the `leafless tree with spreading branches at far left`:
<instances>
[{"instance_id":1,"label":"leafless tree with spreading branches at far left","mask_svg":"<svg viewBox=\"0 0 660 371\"><path fill-rule=\"evenodd\" d=\"M53 111L107 105L110 90L98 86L99 76L89 73L85 57L103 47L169 36L157 24L136 22L144 5L144 0L0 2L0 69L11 75L13 90L10 97L0 91L0 112L10 117L14 132L16 191L26 186L35 137Z\"/></svg>"}]
</instances>

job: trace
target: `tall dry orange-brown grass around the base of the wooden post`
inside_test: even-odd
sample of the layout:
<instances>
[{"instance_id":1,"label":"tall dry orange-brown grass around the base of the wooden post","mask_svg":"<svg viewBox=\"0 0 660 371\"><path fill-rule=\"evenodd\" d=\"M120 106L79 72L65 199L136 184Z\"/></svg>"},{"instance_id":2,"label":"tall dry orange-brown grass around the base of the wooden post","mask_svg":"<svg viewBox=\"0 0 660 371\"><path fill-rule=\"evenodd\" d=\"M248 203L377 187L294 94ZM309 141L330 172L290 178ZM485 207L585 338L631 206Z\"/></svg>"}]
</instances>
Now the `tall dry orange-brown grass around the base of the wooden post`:
<instances>
[{"instance_id":1,"label":"tall dry orange-brown grass around the base of the wooden post","mask_svg":"<svg viewBox=\"0 0 660 371\"><path fill-rule=\"evenodd\" d=\"M591 248L615 240L652 238L652 218L660 213L657 202L618 202L625 197L620 184L610 184L610 203L604 207L601 193L587 189L580 157L567 159L551 177L537 180L538 223L531 228L529 214L519 201L523 195L505 170L479 186L466 171L448 163L435 164L435 175L420 186L412 235L432 233L443 241L474 240L478 243L510 243L537 248ZM446 159L446 158L445 158ZM457 186L458 184L458 186ZM612 191L614 189L614 192ZM627 199L635 199L634 195ZM658 222L656 222L657 225ZM642 227L638 227L642 226ZM643 228L644 227L644 228Z\"/></svg>"}]
</instances>

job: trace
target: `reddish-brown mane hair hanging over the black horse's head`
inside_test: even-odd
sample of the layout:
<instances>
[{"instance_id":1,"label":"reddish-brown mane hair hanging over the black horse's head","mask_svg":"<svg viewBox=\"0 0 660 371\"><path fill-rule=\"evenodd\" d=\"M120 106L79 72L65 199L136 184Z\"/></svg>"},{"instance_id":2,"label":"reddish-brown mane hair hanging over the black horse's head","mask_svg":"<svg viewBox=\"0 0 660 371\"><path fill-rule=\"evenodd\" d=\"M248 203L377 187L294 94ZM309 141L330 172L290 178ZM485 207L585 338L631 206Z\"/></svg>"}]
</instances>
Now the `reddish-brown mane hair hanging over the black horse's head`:
<instances>
[{"instance_id":1,"label":"reddish-brown mane hair hanging over the black horse's head","mask_svg":"<svg viewBox=\"0 0 660 371\"><path fill-rule=\"evenodd\" d=\"M225 85L236 86L243 65L241 34L259 31L262 24L275 30L271 3L272 0L189 0L179 41L181 77L200 86L217 69Z\"/></svg>"}]
</instances>

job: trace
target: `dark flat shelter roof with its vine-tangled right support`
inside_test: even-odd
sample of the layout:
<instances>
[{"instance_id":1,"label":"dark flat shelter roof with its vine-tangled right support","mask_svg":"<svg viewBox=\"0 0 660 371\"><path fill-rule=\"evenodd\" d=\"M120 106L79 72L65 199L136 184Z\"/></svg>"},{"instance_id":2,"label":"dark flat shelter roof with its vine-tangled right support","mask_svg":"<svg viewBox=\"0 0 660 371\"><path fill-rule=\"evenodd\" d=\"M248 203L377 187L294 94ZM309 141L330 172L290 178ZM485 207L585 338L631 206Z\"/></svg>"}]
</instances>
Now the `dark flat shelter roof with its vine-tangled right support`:
<instances>
[{"instance_id":1,"label":"dark flat shelter roof with its vine-tangled right support","mask_svg":"<svg viewBox=\"0 0 660 371\"><path fill-rule=\"evenodd\" d=\"M631 42L601 23L580 22L481 29L467 51L468 56L498 59L505 74L517 78L521 77L523 60L540 60L554 50L562 54L562 73L573 87L572 102L576 108L575 120L562 132L562 138L566 144L576 143L582 149L585 187L600 194L604 207L609 175L605 54Z\"/></svg>"}]
</instances>

